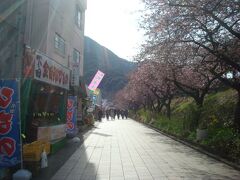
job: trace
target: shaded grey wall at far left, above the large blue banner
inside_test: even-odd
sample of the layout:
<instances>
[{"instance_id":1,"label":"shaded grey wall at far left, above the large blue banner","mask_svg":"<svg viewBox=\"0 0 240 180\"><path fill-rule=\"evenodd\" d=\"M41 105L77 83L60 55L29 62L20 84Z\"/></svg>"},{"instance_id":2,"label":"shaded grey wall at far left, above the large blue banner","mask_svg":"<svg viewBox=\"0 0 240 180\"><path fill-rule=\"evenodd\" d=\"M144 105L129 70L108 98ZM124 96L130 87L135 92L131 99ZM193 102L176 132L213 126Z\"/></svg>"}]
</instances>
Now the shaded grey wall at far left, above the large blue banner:
<instances>
[{"instance_id":1,"label":"shaded grey wall at far left, above the large blue banner","mask_svg":"<svg viewBox=\"0 0 240 180\"><path fill-rule=\"evenodd\" d=\"M0 79L21 77L26 3L0 1Z\"/></svg>"}]
</instances>

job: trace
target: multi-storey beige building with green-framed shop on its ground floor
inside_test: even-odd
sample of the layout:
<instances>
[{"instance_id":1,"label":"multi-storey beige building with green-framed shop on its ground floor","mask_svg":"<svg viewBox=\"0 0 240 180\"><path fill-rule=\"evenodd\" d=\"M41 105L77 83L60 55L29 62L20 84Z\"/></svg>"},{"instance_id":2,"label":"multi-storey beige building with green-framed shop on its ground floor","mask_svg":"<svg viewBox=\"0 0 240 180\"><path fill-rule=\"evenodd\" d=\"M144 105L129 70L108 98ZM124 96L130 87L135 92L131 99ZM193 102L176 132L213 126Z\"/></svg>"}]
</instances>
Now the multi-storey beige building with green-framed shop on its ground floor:
<instances>
[{"instance_id":1,"label":"multi-storey beige building with green-framed shop on its ground floor","mask_svg":"<svg viewBox=\"0 0 240 180\"><path fill-rule=\"evenodd\" d=\"M28 142L65 136L69 96L81 111L85 10L86 0L27 0L22 92L30 98L23 98L22 119Z\"/></svg>"}]
</instances>

